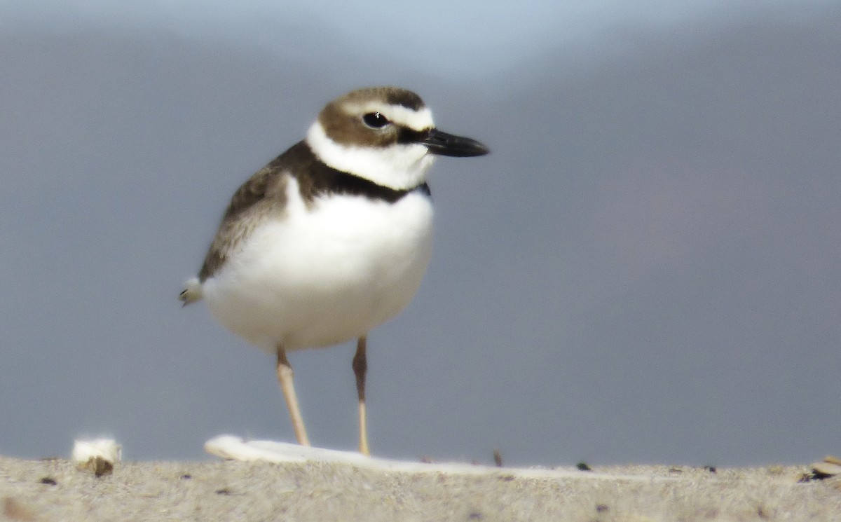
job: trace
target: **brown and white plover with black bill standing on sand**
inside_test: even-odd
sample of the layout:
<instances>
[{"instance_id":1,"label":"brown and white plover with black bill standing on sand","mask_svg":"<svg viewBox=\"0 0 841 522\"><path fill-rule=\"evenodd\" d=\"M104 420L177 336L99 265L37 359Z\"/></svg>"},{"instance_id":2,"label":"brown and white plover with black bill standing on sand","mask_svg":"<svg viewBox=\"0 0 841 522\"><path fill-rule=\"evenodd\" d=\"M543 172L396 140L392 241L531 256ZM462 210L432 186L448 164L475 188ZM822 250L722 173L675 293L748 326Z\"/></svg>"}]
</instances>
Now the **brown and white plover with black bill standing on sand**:
<instances>
[{"instance_id":1,"label":"brown and white plover with black bill standing on sand","mask_svg":"<svg viewBox=\"0 0 841 522\"><path fill-rule=\"evenodd\" d=\"M365 87L327 103L304 140L257 171L225 209L180 293L270 355L295 437L310 446L288 352L357 340L359 452L369 456L368 332L399 314L431 257L426 173L435 156L488 154L436 128L420 96Z\"/></svg>"}]
</instances>

